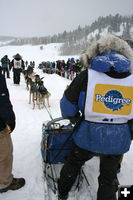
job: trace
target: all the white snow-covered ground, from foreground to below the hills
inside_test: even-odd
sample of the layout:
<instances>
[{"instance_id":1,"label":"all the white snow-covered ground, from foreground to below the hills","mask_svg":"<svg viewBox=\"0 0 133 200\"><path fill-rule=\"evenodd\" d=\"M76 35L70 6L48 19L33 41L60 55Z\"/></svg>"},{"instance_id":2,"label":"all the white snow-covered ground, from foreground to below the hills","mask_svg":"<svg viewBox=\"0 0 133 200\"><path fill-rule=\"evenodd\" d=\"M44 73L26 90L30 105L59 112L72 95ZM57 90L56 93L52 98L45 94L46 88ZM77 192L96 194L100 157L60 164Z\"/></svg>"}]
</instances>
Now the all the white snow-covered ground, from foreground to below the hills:
<instances>
[{"instance_id":1,"label":"all the white snow-covered ground, from foreground to below the hills","mask_svg":"<svg viewBox=\"0 0 133 200\"><path fill-rule=\"evenodd\" d=\"M24 60L35 60L38 64L43 60L67 59L68 57L59 56L58 48L59 46L57 44L46 45L42 51L39 46L1 47L0 58L7 54L12 59L14 54L20 53ZM44 84L51 93L50 112L52 117L60 117L59 101L70 80L56 74L44 74L41 70L37 69L37 65L35 71L41 77L44 77ZM29 92L26 90L23 75L21 75L20 85L17 86L13 84L11 72L11 79L7 79L7 86L16 114L16 128L12 133L14 144L13 174L15 177L24 177L26 179L26 185L20 190L0 194L0 200L45 200L40 142L42 137L42 123L50 120L50 117L45 108L39 110L36 107L33 110L32 105L28 103ZM125 154L121 173L118 174L121 185L133 184L132 154L133 145L130 151ZM78 195L79 200L96 200L97 177L99 175L98 157L93 158L85 164L85 173L90 182L90 187L88 189L82 188ZM88 195L89 190L91 191L90 197ZM51 200L56 200L54 195ZM74 198L70 196L69 200L74 200Z\"/></svg>"}]
</instances>

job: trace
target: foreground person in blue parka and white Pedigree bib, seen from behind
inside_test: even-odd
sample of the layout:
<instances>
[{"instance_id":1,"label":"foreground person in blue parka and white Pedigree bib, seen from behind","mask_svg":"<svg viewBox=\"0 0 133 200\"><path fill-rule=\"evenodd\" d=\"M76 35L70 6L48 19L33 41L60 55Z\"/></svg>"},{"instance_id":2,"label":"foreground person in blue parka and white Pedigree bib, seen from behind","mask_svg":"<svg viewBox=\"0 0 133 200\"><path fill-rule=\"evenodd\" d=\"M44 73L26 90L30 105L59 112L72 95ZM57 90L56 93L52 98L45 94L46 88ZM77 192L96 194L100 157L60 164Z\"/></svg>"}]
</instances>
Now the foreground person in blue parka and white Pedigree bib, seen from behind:
<instances>
[{"instance_id":1,"label":"foreground person in blue parka and white Pedigree bib, seen from behind","mask_svg":"<svg viewBox=\"0 0 133 200\"><path fill-rule=\"evenodd\" d=\"M75 146L58 180L58 200L66 200L76 177L95 155L100 156L97 200L116 200L117 169L129 151L133 120L133 51L124 40L107 34L81 56L84 70L60 102L62 116L84 119L75 130ZM86 68L86 69L85 69Z\"/></svg>"}]
</instances>

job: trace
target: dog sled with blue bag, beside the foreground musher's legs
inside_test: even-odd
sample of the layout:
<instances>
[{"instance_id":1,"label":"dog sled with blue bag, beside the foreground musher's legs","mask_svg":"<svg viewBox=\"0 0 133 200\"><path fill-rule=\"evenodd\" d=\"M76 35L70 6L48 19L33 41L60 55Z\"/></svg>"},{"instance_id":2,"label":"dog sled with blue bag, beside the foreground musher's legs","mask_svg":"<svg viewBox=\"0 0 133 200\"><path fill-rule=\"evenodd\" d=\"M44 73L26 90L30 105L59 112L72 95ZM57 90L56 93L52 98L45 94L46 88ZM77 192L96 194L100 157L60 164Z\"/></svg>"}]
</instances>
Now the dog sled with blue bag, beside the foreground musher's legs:
<instances>
[{"instance_id":1,"label":"dog sled with blue bag, beside the foreground musher's legs","mask_svg":"<svg viewBox=\"0 0 133 200\"><path fill-rule=\"evenodd\" d=\"M42 125L41 154L43 160L45 200L52 200L52 195L56 196L57 199L57 181L61 168L73 147L72 135L75 129L76 127L69 120L61 117L44 122ZM89 186L82 168L71 190L72 193L75 193L75 191L77 193L80 190L83 180Z\"/></svg>"}]
</instances>

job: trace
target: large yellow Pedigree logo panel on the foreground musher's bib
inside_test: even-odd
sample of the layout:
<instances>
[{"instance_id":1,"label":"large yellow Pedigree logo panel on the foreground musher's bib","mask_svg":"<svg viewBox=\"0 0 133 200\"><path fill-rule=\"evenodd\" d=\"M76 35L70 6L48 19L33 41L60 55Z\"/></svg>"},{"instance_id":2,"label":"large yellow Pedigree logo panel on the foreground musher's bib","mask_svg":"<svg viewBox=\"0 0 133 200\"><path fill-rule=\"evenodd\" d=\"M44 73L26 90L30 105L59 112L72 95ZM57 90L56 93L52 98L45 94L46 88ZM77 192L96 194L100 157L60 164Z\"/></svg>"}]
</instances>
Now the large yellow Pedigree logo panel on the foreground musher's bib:
<instances>
[{"instance_id":1,"label":"large yellow Pedigree logo panel on the foreground musher's bib","mask_svg":"<svg viewBox=\"0 0 133 200\"><path fill-rule=\"evenodd\" d=\"M132 110L133 87L96 84L92 111L97 113L129 115Z\"/></svg>"}]
</instances>

